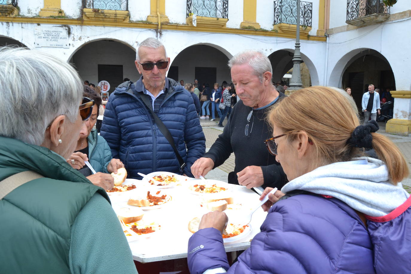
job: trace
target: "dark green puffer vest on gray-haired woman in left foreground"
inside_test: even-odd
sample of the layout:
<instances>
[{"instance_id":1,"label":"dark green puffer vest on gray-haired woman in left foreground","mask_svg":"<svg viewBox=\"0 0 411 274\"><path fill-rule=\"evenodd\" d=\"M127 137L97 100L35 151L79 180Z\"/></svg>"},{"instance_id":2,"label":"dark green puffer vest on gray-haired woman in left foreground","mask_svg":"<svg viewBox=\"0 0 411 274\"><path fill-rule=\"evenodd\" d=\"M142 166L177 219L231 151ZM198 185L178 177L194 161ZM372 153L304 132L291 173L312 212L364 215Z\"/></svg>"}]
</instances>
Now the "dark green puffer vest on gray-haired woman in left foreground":
<instances>
[{"instance_id":1,"label":"dark green puffer vest on gray-haired woman in left foreground","mask_svg":"<svg viewBox=\"0 0 411 274\"><path fill-rule=\"evenodd\" d=\"M45 177L0 200L0 272L70 273L76 217L96 192L109 197L45 147L5 137L0 144L0 181L25 170Z\"/></svg>"}]
</instances>

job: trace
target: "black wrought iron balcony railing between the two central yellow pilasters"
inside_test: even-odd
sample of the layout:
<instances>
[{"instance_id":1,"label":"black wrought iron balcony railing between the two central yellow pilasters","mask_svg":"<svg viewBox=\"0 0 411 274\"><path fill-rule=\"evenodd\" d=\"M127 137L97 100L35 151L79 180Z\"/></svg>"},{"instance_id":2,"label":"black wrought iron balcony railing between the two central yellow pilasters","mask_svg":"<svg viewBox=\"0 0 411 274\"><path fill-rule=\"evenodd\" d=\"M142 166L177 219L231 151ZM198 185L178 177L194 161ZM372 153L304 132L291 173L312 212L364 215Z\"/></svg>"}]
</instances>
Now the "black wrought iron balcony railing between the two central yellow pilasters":
<instances>
[{"instance_id":1,"label":"black wrought iron balcony railing between the two central yellow pilasters","mask_svg":"<svg viewBox=\"0 0 411 274\"><path fill-rule=\"evenodd\" d=\"M187 17L197 16L228 18L229 0L187 0Z\"/></svg>"}]
</instances>

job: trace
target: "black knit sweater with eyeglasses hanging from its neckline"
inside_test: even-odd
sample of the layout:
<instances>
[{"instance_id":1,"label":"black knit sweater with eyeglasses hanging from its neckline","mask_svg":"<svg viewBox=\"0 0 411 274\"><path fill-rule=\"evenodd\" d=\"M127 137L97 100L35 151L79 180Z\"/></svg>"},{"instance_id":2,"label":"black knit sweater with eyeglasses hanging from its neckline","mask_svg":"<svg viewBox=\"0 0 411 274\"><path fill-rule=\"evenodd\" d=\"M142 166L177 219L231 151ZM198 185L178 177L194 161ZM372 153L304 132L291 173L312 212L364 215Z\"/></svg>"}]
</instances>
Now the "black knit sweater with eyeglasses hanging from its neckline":
<instances>
[{"instance_id":1,"label":"black knit sweater with eyeglasses hanging from its neckline","mask_svg":"<svg viewBox=\"0 0 411 274\"><path fill-rule=\"evenodd\" d=\"M284 93L279 92L279 97L283 96L285 96ZM261 166L264 188L277 187L281 189L287 182L282 167L275 161L275 156L268 152L264 144L264 140L272 137L272 128L266 120L270 109L271 106L253 111L249 122L249 134L245 136L247 115L252 108L245 106L241 100L238 101L231 111L223 133L218 136L210 150L204 154L203 157L211 158L214 161L214 168L216 168L234 152L236 167L234 172L229 174L229 183L238 184L236 174L247 166Z\"/></svg>"}]
</instances>

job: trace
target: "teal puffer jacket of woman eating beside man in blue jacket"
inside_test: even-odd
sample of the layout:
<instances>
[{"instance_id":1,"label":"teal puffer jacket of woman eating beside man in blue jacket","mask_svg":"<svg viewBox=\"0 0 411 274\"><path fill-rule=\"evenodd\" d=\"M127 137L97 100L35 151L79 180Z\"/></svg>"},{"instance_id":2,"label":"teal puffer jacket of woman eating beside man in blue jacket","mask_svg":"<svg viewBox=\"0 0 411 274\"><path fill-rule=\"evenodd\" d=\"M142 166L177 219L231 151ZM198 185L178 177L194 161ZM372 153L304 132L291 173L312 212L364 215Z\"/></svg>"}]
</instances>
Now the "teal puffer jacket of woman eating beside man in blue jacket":
<instances>
[{"instance_id":1,"label":"teal puffer jacket of woman eating beside man in blue jacket","mask_svg":"<svg viewBox=\"0 0 411 274\"><path fill-rule=\"evenodd\" d=\"M106 140L97 134L97 130L93 129L87 137L88 140L88 161L96 172L109 173L107 165L113 157L111 149Z\"/></svg>"}]
</instances>

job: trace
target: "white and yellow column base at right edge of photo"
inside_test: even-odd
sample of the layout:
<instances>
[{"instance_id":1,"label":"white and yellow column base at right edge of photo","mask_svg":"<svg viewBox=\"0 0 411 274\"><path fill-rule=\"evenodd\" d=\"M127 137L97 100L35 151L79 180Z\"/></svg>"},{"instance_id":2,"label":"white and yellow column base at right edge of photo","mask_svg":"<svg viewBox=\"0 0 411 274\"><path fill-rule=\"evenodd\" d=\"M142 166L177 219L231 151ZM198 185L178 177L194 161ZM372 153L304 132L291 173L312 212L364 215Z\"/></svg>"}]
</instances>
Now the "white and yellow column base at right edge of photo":
<instances>
[{"instance_id":1,"label":"white and yellow column base at right edge of photo","mask_svg":"<svg viewBox=\"0 0 411 274\"><path fill-rule=\"evenodd\" d=\"M386 132L408 135L411 134L411 91L391 90L395 98L393 119L388 120Z\"/></svg>"}]
</instances>

